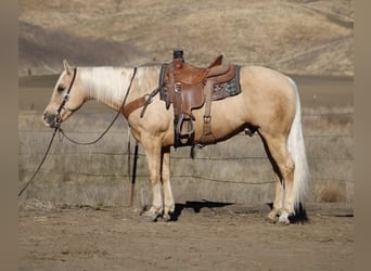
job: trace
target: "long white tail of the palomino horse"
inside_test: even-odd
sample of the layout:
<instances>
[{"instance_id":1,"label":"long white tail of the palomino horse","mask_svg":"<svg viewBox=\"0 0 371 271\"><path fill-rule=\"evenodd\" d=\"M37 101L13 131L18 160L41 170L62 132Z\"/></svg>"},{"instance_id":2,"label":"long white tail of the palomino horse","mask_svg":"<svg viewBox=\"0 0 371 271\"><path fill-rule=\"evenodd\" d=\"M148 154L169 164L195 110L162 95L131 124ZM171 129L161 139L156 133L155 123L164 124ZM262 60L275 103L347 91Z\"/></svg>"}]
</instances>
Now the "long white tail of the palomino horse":
<instances>
[{"instance_id":1,"label":"long white tail of the palomino horse","mask_svg":"<svg viewBox=\"0 0 371 271\"><path fill-rule=\"evenodd\" d=\"M289 78L289 77L287 77ZM294 121L291 126L287 146L289 152L295 163L294 171L294 206L299 209L299 204L304 207L305 198L309 193L310 173L306 156L306 149L304 144L303 130L302 130L302 108L300 99L294 80L289 78L295 89L296 113Z\"/></svg>"}]
</instances>

